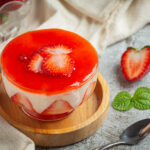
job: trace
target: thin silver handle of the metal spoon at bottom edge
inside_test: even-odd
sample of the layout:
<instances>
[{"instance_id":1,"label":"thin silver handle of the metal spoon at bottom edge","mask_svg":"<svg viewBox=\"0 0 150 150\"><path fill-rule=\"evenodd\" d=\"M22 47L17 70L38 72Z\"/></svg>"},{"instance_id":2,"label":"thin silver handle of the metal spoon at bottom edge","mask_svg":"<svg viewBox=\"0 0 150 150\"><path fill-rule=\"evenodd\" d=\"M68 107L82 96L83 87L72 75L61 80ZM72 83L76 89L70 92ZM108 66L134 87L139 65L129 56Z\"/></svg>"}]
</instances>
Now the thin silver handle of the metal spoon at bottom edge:
<instances>
[{"instance_id":1,"label":"thin silver handle of the metal spoon at bottom edge","mask_svg":"<svg viewBox=\"0 0 150 150\"><path fill-rule=\"evenodd\" d=\"M126 143L125 143L124 141L122 141L122 140L119 140L119 141L112 142L112 143L109 143L109 144L107 144L107 145L104 145L104 146L102 146L102 147L96 148L96 149L94 149L94 150L105 150L105 149L107 149L107 148L111 148L111 147L113 147L113 146L122 145L122 144L126 144Z\"/></svg>"}]
</instances>

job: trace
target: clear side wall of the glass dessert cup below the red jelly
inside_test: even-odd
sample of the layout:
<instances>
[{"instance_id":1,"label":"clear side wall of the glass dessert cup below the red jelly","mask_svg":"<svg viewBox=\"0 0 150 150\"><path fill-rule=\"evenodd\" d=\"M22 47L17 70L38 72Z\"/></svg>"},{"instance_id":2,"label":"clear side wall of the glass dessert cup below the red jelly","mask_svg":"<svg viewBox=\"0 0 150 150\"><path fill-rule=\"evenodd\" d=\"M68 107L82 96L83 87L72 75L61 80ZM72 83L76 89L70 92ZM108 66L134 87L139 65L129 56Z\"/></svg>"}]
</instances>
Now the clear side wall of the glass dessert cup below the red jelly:
<instances>
[{"instance_id":1,"label":"clear side wall of the glass dessert cup below the red jelly","mask_svg":"<svg viewBox=\"0 0 150 150\"><path fill-rule=\"evenodd\" d=\"M39 94L36 91L29 92L28 89L26 90L20 87L20 85L8 77L2 67L1 75L3 87L9 98L15 102L15 104L17 104L25 114L34 119L42 121L56 121L67 117L91 96L97 81L96 69L95 72L93 72L93 75L79 88L59 94L44 95ZM71 105L70 102L73 103L73 105ZM56 103L57 108L49 111L49 107L47 106L52 108L52 105L55 105ZM39 110L38 107L41 105L41 108L44 107L44 110ZM62 107L62 105L63 111L59 109L59 107ZM39 112L36 111L36 108L39 110Z\"/></svg>"}]
</instances>

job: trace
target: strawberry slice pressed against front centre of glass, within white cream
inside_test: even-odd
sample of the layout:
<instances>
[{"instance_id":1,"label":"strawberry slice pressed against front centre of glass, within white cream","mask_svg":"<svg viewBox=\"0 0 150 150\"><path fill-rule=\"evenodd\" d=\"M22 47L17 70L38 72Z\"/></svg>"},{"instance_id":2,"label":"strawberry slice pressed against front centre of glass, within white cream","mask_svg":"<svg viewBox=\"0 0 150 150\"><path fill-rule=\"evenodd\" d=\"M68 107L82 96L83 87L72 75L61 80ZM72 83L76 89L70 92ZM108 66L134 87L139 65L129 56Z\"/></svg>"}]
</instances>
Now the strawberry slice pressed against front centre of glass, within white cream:
<instances>
[{"instance_id":1,"label":"strawberry slice pressed against front centre of glass, within white cream","mask_svg":"<svg viewBox=\"0 0 150 150\"><path fill-rule=\"evenodd\" d=\"M71 112L73 108L67 101L56 100L53 104L50 105L42 115L52 115L52 114L62 114L66 112Z\"/></svg>"}]
</instances>

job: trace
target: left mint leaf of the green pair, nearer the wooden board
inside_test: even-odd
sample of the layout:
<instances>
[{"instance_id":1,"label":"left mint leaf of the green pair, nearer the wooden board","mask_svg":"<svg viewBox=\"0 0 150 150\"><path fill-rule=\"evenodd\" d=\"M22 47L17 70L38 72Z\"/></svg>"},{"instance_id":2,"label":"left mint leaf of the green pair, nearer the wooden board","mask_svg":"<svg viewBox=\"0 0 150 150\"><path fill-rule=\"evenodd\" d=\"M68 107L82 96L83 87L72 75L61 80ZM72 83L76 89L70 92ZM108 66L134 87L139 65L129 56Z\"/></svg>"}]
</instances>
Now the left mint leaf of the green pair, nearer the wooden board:
<instances>
[{"instance_id":1,"label":"left mint leaf of the green pair, nearer the wooden board","mask_svg":"<svg viewBox=\"0 0 150 150\"><path fill-rule=\"evenodd\" d=\"M133 102L131 101L131 95L127 91L122 91L118 93L112 104L113 108L120 111L126 111L133 107Z\"/></svg>"}]
</instances>

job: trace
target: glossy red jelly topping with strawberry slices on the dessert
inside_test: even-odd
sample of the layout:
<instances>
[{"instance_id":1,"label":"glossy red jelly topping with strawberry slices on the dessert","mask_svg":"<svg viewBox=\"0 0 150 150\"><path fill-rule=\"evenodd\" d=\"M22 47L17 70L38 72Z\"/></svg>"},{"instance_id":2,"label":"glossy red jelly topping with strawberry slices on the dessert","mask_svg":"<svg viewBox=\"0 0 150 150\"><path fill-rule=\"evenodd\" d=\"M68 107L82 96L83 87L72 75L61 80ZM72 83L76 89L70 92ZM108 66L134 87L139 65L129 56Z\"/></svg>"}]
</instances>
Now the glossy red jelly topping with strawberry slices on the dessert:
<instances>
[{"instance_id":1,"label":"glossy red jelly topping with strawberry slices on the dessert","mask_svg":"<svg viewBox=\"0 0 150 150\"><path fill-rule=\"evenodd\" d=\"M20 60L22 54L26 61ZM98 56L81 36L61 29L45 29L24 33L9 42L2 52L1 65L13 84L50 95L86 83L97 69Z\"/></svg>"}]
</instances>

